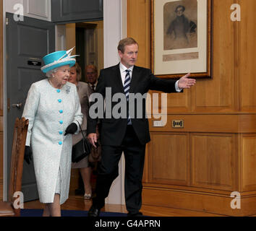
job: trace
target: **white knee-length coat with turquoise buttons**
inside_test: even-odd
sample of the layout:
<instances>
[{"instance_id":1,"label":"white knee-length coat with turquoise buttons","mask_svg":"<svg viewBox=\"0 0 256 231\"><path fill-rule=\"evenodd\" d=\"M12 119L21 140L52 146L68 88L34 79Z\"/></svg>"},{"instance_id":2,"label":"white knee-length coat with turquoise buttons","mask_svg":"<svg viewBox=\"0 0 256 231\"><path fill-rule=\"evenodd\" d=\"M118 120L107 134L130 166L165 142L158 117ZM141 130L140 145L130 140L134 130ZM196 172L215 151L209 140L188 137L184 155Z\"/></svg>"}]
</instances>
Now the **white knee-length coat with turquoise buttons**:
<instances>
[{"instance_id":1,"label":"white knee-length coat with turquoise buttons","mask_svg":"<svg viewBox=\"0 0 256 231\"><path fill-rule=\"evenodd\" d=\"M48 79L33 83L22 116L29 120L26 145L31 146L33 152L40 202L54 202L60 170L60 204L63 204L69 197L72 153L72 135L64 136L64 133L70 123L82 123L76 86L67 82L57 90ZM77 123L76 133L78 131Z\"/></svg>"}]
</instances>

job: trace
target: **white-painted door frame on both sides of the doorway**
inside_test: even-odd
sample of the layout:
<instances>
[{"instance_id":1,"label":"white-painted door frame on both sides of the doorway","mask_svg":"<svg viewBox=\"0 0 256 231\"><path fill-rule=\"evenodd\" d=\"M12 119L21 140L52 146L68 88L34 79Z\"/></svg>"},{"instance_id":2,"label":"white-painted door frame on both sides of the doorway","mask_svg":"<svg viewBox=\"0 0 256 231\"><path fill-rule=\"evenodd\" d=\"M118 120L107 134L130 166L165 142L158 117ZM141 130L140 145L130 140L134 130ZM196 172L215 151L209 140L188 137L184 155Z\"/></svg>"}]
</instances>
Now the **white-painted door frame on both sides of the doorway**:
<instances>
[{"instance_id":1,"label":"white-painted door frame on both sides of the doorway","mask_svg":"<svg viewBox=\"0 0 256 231\"><path fill-rule=\"evenodd\" d=\"M3 1L3 0L1 0ZM111 4L110 4L111 2ZM103 27L104 27L104 67L115 65L119 62L116 46L121 38L127 37L127 0L103 1ZM116 9L116 10L113 10ZM6 40L6 5L3 1L3 133L4 133L4 151L3 151L3 200L7 201L7 40ZM119 163L119 178L111 187L111 191L106 201L109 204L124 204L124 157Z\"/></svg>"}]
</instances>

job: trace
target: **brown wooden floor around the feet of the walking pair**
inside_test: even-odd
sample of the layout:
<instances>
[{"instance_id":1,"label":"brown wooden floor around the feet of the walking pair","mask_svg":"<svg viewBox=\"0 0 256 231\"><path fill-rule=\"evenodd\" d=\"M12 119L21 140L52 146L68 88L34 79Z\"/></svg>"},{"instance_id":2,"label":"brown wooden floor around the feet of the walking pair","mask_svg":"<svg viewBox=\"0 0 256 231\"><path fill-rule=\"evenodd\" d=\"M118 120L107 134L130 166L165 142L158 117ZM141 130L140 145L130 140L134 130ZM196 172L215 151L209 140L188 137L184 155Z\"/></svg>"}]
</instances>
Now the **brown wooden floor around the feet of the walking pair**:
<instances>
[{"instance_id":1,"label":"brown wooden floor around the feet of the walking pair","mask_svg":"<svg viewBox=\"0 0 256 231\"><path fill-rule=\"evenodd\" d=\"M69 199L64 204L61 205L61 209L88 211L90 209L91 204L91 200L85 200L82 196L76 196L74 195L74 193L70 192ZM24 208L43 209L43 204L41 204L39 201L29 201L25 202ZM121 204L106 204L102 211L127 213L125 206ZM218 214L145 205L142 206L142 209L140 211L145 216L150 217L221 217L221 215Z\"/></svg>"}]
</instances>

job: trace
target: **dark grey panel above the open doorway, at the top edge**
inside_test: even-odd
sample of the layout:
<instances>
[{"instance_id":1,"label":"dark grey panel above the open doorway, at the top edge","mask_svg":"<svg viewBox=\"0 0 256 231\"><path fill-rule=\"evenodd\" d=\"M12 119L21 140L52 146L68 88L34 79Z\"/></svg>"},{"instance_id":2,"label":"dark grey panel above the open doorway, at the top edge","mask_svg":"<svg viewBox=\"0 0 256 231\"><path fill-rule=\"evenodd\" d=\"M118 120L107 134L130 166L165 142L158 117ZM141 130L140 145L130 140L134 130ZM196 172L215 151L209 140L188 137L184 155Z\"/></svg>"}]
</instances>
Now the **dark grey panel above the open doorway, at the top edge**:
<instances>
[{"instance_id":1,"label":"dark grey panel above the open doorway, at the top edge","mask_svg":"<svg viewBox=\"0 0 256 231\"><path fill-rule=\"evenodd\" d=\"M86 22L103 19L103 0L51 0L53 22Z\"/></svg>"}]
</instances>

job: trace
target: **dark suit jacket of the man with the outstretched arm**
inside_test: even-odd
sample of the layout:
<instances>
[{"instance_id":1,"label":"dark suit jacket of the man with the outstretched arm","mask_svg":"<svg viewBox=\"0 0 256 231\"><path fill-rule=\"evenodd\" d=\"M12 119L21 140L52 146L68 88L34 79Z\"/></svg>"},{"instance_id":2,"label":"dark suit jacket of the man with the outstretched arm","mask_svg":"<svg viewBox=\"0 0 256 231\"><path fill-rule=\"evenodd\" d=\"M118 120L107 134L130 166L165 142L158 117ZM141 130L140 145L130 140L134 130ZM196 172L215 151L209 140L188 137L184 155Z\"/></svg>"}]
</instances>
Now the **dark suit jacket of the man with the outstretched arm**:
<instances>
[{"instance_id":1,"label":"dark suit jacket of the man with the outstretched arm","mask_svg":"<svg viewBox=\"0 0 256 231\"><path fill-rule=\"evenodd\" d=\"M176 92L174 79L160 79L155 77L150 69L145 69L140 66L134 66L132 71L132 81L129 93L145 94L148 90L157 90L162 92ZM102 69L98 78L96 92L101 93L106 97L106 87L111 87L111 96L115 93L124 93L124 87L121 82L121 74L119 64ZM119 102L112 102L111 109ZM127 103L128 108L128 103ZM135 118L132 118L132 126L140 140L141 144L146 144L150 141L150 133L148 127L148 118L145 116L145 100L143 100L142 118L137 116L137 103L135 101ZM127 109L128 112L128 109ZM88 118L88 134L95 133L97 119ZM101 118L101 144L119 146L124 139L125 131L127 128L127 118Z\"/></svg>"}]
</instances>

